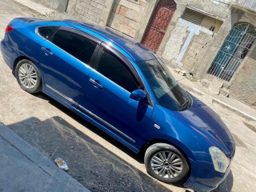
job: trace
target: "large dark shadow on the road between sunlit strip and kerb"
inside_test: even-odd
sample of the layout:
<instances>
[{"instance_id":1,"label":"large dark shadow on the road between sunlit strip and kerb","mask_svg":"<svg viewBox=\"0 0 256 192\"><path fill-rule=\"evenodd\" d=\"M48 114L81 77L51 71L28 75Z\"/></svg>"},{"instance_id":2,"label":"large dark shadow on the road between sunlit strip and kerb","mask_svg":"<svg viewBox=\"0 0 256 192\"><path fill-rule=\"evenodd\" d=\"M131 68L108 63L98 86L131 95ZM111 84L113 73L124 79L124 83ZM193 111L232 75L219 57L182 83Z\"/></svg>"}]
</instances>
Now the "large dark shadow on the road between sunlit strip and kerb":
<instances>
[{"instance_id":1,"label":"large dark shadow on the road between sunlit strip and kerb","mask_svg":"<svg viewBox=\"0 0 256 192\"><path fill-rule=\"evenodd\" d=\"M82 124L96 129L87 122ZM48 158L64 159L68 174L91 191L170 191L58 116L45 121L27 118L8 127ZM94 132L98 134L98 130Z\"/></svg>"}]
</instances>

